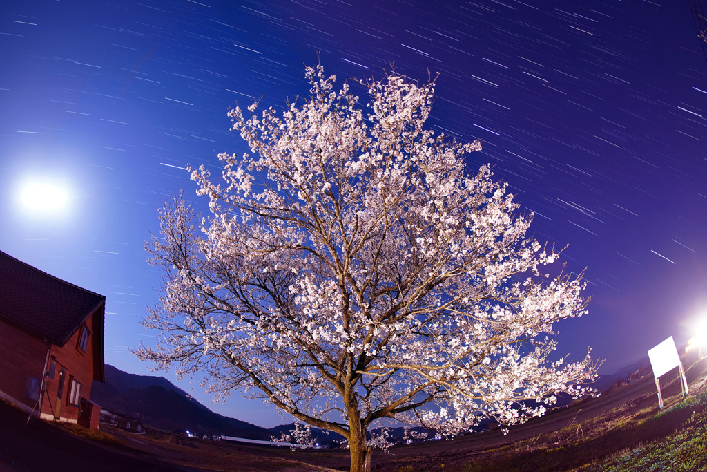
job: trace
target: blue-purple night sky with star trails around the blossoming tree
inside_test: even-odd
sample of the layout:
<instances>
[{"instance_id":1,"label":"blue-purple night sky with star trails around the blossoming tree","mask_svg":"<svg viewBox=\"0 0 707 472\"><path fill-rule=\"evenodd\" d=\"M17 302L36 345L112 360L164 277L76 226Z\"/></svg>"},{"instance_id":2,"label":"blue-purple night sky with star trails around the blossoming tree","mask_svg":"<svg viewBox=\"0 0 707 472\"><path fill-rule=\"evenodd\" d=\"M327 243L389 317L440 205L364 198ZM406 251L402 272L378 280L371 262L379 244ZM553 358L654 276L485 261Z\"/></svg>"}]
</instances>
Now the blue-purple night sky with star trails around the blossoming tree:
<instances>
[{"instance_id":1,"label":"blue-purple night sky with star trails around the blossoming tree","mask_svg":"<svg viewBox=\"0 0 707 472\"><path fill-rule=\"evenodd\" d=\"M105 361L129 347L160 272L144 242L187 163L247 151L226 113L339 83L440 73L428 125L484 141L531 231L588 267L589 314L559 351L611 373L707 316L707 60L684 0L6 0L0 4L0 250L107 297ZM361 95L364 91L361 89ZM33 205L28 185L68 193ZM199 208L206 209L204 202ZM167 375L174 379L172 373ZM198 381L185 390L209 405ZM273 426L232 396L210 408ZM287 421L289 421L287 419Z\"/></svg>"}]
</instances>

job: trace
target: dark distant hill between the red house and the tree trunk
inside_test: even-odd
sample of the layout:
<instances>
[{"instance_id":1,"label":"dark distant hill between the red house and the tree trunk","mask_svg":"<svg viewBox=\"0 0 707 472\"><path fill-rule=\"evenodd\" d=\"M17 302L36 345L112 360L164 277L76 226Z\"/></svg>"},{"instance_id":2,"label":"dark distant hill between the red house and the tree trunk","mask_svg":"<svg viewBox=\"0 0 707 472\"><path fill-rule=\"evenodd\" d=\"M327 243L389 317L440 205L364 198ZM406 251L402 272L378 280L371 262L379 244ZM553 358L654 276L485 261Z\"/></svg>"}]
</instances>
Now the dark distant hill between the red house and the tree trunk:
<instances>
[{"instance_id":1,"label":"dark distant hill between the red house and the tree trunk","mask_svg":"<svg viewBox=\"0 0 707 472\"><path fill-rule=\"evenodd\" d=\"M148 427L263 440L273 435L264 427L212 412L164 377L128 374L106 365L105 384L94 381L91 389L95 403Z\"/></svg>"}]
</instances>

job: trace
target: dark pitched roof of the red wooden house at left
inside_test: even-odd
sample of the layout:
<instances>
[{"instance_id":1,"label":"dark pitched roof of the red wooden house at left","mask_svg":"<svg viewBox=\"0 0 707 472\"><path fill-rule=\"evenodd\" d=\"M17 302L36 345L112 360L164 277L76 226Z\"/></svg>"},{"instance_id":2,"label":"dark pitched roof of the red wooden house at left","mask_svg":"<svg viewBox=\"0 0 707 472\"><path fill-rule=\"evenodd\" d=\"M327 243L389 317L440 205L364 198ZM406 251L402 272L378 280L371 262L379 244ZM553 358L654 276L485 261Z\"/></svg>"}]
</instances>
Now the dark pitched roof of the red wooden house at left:
<instances>
[{"instance_id":1,"label":"dark pitched roof of the red wooden house at left","mask_svg":"<svg viewBox=\"0 0 707 472\"><path fill-rule=\"evenodd\" d=\"M94 338L100 339L103 364L105 297L23 263L0 251L0 318L42 340L63 346L94 313L100 315ZM100 333L95 333L100 330ZM97 366L101 371L102 367Z\"/></svg>"}]
</instances>

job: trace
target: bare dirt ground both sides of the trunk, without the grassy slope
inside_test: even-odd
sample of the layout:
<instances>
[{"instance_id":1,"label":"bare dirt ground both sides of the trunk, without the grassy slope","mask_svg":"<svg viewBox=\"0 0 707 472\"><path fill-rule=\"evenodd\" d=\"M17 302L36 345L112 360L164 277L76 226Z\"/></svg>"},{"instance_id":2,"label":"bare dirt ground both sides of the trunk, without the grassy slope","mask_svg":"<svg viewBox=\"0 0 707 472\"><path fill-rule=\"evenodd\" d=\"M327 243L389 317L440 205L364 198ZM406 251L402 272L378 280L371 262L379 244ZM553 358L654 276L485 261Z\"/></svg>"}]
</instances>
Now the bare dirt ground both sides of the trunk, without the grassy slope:
<instances>
[{"instance_id":1,"label":"bare dirt ground both sides of the trunk, without the grassy slope","mask_svg":"<svg viewBox=\"0 0 707 472\"><path fill-rule=\"evenodd\" d=\"M684 364L688 365L687 359ZM687 371L689 384L695 384L706 374L705 360ZM667 378L666 378L667 377ZM677 375L661 379L666 408L682 399ZM553 411L525 425L501 431L470 434L453 440L423 442L393 447L389 452L374 451L373 471L399 470L459 470L472 461L488 457L489 449L513 447L527 439L554 433L558 447L563 442L578 439L580 428L573 425L593 418L607 418L618 408L655 410L658 397L652 376L618 388L599 398L590 398L578 405ZM25 471L342 471L349 469L346 449L309 449L291 451L287 448L213 442L151 431L136 435L117 430L105 432L119 441L103 442L76 437L51 423L33 418L25 427L27 415L0 403L0 472ZM571 430L566 439L556 432ZM110 439L110 436L107 436ZM546 439L540 439L545 441Z\"/></svg>"}]
</instances>

